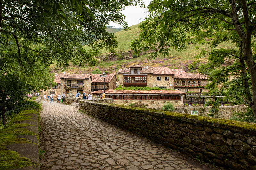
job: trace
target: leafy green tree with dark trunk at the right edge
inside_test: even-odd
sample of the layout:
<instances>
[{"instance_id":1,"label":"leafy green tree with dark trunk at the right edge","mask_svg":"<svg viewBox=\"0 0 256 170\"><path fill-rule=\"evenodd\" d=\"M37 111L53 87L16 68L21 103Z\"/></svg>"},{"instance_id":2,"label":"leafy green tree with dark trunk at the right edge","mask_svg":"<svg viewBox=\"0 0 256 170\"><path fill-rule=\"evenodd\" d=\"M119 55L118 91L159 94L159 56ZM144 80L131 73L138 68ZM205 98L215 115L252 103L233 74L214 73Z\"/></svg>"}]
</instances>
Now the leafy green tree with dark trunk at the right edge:
<instances>
[{"instance_id":1,"label":"leafy green tree with dark trunk at the right edge","mask_svg":"<svg viewBox=\"0 0 256 170\"><path fill-rule=\"evenodd\" d=\"M209 44L197 57L199 61L208 59L199 69L212 72L210 93L218 84L226 83L223 87L229 87L236 83L232 85L234 93L239 91L256 117L256 64L252 52L255 49L256 2L153 0L148 9L150 14L140 24L139 39L132 42L132 50L137 53L153 50L155 58L158 53L168 55L169 47L181 51L190 43ZM221 48L220 43L233 44L233 47ZM226 60L234 63L222 67ZM239 76L229 82L230 73ZM224 88L220 92L224 92Z\"/></svg>"}]
</instances>

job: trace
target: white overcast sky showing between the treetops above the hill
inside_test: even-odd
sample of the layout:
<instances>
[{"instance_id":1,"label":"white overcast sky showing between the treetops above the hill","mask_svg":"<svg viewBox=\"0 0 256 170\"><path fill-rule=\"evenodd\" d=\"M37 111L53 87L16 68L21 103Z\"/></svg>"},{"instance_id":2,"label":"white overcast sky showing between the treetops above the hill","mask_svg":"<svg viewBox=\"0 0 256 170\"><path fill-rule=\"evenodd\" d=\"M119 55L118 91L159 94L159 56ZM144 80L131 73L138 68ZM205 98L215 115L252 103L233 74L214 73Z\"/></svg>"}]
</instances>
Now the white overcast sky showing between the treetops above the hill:
<instances>
[{"instance_id":1,"label":"white overcast sky showing between the treetops above the hill","mask_svg":"<svg viewBox=\"0 0 256 170\"><path fill-rule=\"evenodd\" d=\"M152 0L143 0L144 4L148 6L148 4ZM125 10L121 11L122 14L126 16L125 21L127 22L128 26L136 25L142 22L145 19L149 12L147 8L140 8L140 6L128 6L125 8ZM114 26L115 28L120 28L121 25L116 24L114 22L109 23L110 26Z\"/></svg>"}]
</instances>

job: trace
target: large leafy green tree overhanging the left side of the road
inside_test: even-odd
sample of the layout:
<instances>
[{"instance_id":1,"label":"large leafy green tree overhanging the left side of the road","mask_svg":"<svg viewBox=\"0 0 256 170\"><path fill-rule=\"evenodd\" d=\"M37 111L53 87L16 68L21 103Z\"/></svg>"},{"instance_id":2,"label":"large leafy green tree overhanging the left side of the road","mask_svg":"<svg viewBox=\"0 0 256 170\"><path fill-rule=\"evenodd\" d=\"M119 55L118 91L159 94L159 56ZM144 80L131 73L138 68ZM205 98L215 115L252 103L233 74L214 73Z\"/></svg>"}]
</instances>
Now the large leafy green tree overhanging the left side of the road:
<instances>
[{"instance_id":1,"label":"large leafy green tree overhanging the left side of the road","mask_svg":"<svg viewBox=\"0 0 256 170\"><path fill-rule=\"evenodd\" d=\"M100 48L112 50L117 46L114 34L108 33L105 25L113 21L128 29L125 16L120 11L139 2L1 0L0 75L16 76L24 85L39 90L54 84L54 75L48 69L53 62L60 68L67 67L69 63L82 67L85 64L96 65L93 56ZM86 51L81 42L90 44L92 49ZM12 81L5 83L6 86L13 86ZM23 92L31 89L23 87L12 88ZM9 93L4 90L3 94L6 96ZM16 97L22 99L20 94ZM1 102L4 99L1 98ZM4 111L0 110L0 116L3 114Z\"/></svg>"}]
</instances>

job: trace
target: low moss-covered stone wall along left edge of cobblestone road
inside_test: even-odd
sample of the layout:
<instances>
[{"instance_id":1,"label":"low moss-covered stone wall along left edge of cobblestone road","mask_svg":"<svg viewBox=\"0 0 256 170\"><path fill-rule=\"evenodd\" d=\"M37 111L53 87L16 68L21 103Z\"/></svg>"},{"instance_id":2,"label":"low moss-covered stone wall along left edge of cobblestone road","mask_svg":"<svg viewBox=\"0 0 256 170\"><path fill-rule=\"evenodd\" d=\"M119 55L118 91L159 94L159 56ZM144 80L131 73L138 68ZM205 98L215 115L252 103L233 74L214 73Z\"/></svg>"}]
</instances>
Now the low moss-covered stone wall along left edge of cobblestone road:
<instances>
[{"instance_id":1,"label":"low moss-covered stone wall along left edge of cobblestone road","mask_svg":"<svg viewBox=\"0 0 256 170\"><path fill-rule=\"evenodd\" d=\"M0 131L1 170L39 170L38 114L21 111Z\"/></svg>"}]
</instances>

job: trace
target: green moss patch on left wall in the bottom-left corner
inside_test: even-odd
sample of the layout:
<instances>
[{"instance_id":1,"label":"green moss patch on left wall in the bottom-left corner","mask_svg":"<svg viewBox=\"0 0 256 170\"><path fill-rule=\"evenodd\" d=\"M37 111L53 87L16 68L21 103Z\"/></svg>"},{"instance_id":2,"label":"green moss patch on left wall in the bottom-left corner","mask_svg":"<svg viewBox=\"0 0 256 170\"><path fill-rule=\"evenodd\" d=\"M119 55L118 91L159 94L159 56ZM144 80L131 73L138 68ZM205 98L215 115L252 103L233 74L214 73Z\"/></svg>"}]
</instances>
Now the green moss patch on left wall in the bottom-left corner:
<instances>
[{"instance_id":1,"label":"green moss patch on left wall in the bottom-left corner","mask_svg":"<svg viewBox=\"0 0 256 170\"><path fill-rule=\"evenodd\" d=\"M16 169L36 165L30 159L20 157L20 154L15 151L4 150L0 151L0 169Z\"/></svg>"}]
</instances>

